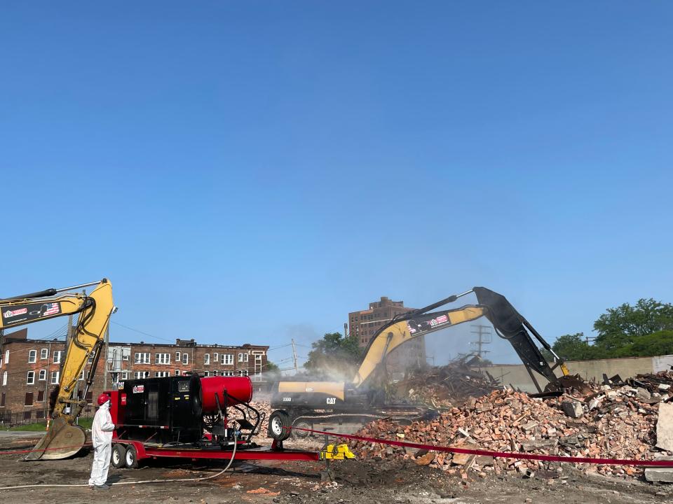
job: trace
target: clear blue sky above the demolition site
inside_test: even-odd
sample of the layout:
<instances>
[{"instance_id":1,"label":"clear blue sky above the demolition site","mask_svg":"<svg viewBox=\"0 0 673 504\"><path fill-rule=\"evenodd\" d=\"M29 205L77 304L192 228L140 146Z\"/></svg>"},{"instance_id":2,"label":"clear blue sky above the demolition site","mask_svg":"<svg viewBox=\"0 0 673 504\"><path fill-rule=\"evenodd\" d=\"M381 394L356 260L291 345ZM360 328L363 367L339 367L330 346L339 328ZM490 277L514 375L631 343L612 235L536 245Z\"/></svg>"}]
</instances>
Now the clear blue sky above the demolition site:
<instances>
[{"instance_id":1,"label":"clear blue sky above the demolition site","mask_svg":"<svg viewBox=\"0 0 673 504\"><path fill-rule=\"evenodd\" d=\"M672 15L5 2L0 295L108 276L117 323L271 346L381 295L488 286L550 341L673 301Z\"/></svg>"}]
</instances>

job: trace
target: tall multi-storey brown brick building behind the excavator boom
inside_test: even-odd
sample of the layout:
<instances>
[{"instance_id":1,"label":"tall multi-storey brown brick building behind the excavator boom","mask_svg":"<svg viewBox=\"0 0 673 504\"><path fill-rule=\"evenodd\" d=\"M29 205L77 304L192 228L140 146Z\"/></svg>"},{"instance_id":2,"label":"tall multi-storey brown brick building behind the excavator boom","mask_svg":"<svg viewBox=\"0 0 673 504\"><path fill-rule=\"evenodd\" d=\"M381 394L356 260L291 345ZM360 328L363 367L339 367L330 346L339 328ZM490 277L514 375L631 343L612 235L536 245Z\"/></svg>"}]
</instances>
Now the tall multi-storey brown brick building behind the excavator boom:
<instances>
[{"instance_id":1,"label":"tall multi-storey brown brick building behind the excavator boom","mask_svg":"<svg viewBox=\"0 0 673 504\"><path fill-rule=\"evenodd\" d=\"M412 311L404 301L392 301L382 296L381 300L369 303L369 309L351 311L348 314L348 334L358 338L361 347L367 346L381 325L388 323L395 315ZM419 337L390 352L386 367L393 378L401 378L410 367L426 364L426 342Z\"/></svg>"}]
</instances>

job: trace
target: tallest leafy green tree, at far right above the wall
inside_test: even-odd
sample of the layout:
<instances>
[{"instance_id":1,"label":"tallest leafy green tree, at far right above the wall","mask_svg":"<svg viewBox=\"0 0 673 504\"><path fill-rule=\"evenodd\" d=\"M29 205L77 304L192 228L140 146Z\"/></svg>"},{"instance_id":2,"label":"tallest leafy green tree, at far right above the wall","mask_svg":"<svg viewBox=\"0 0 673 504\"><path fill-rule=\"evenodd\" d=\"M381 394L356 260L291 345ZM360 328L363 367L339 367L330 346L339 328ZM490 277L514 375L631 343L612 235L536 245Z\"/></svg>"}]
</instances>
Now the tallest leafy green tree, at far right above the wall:
<instances>
[{"instance_id":1,"label":"tallest leafy green tree, at far right above the wall","mask_svg":"<svg viewBox=\"0 0 673 504\"><path fill-rule=\"evenodd\" d=\"M620 349L634 344L638 337L673 330L673 304L652 298L641 299L635 306L624 303L599 316L594 330L598 332L596 346L620 353Z\"/></svg>"}]
</instances>

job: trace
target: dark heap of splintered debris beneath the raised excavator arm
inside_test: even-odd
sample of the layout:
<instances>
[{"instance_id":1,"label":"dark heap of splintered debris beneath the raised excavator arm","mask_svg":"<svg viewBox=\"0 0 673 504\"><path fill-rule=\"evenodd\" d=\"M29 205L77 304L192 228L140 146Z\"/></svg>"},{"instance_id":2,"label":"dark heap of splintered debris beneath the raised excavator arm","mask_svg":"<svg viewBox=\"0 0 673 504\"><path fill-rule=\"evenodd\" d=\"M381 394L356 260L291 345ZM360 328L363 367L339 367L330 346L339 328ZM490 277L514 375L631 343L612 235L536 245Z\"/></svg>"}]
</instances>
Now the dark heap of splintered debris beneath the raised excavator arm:
<instances>
[{"instance_id":1,"label":"dark heap of splintered debris beneath the raised excavator arm","mask_svg":"<svg viewBox=\"0 0 673 504\"><path fill-rule=\"evenodd\" d=\"M496 379L462 362L422 370L397 384L399 393L409 400L437 409L465 402L468 397L479 398L499 388L502 387Z\"/></svg>"}]
</instances>

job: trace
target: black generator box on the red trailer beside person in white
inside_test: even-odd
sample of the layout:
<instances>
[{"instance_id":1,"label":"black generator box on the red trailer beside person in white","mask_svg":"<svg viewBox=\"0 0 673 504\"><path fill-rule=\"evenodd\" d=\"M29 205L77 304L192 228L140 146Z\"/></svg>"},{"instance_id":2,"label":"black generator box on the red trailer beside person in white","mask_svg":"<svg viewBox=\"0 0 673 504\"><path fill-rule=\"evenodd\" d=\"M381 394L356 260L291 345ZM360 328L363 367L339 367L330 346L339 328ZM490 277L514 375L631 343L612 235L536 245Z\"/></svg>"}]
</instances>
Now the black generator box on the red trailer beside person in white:
<instances>
[{"instance_id":1,"label":"black generator box on the red trailer beside person in white","mask_svg":"<svg viewBox=\"0 0 673 504\"><path fill-rule=\"evenodd\" d=\"M116 430L125 439L189 443L203 437L201 382L196 374L128 380L120 392L125 405L116 415L120 421Z\"/></svg>"}]
</instances>

